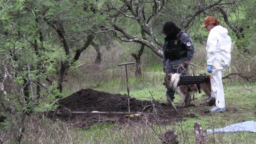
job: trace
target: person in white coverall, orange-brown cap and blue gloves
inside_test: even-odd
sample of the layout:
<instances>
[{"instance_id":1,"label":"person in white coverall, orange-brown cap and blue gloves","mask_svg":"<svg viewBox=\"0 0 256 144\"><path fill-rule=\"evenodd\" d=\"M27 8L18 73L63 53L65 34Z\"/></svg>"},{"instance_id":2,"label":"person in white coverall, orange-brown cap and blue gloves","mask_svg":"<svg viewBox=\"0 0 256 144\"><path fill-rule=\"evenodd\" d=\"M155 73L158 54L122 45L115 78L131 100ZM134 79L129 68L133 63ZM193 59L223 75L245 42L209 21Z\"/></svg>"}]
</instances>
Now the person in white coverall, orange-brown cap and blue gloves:
<instances>
[{"instance_id":1,"label":"person in white coverall, orange-brown cap and blue gloves","mask_svg":"<svg viewBox=\"0 0 256 144\"><path fill-rule=\"evenodd\" d=\"M224 112L225 98L222 85L222 73L228 68L231 60L231 38L228 30L220 26L220 20L208 16L205 18L204 25L210 33L208 35L207 52L207 71L211 73L211 97L206 101L209 106L215 106L205 112ZM215 103L214 103L215 102Z\"/></svg>"}]
</instances>

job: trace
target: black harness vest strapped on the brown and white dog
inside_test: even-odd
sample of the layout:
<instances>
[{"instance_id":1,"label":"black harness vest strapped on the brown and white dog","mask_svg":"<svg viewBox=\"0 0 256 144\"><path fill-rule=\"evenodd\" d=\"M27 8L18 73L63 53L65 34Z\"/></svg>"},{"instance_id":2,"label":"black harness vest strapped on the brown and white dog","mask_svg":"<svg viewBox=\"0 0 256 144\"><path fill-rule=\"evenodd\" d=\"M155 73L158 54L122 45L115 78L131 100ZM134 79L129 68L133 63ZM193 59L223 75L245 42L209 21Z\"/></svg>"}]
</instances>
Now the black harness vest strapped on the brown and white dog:
<instances>
[{"instance_id":1,"label":"black harness vest strapped on the brown and white dog","mask_svg":"<svg viewBox=\"0 0 256 144\"><path fill-rule=\"evenodd\" d=\"M184 76L180 76L178 86L187 85L187 87L188 87L189 84L196 84L196 86L198 88L198 92L199 92L199 94L201 94L199 84L204 82L206 79L207 79L206 74L184 75ZM190 91L189 87L188 87L188 90Z\"/></svg>"}]
</instances>

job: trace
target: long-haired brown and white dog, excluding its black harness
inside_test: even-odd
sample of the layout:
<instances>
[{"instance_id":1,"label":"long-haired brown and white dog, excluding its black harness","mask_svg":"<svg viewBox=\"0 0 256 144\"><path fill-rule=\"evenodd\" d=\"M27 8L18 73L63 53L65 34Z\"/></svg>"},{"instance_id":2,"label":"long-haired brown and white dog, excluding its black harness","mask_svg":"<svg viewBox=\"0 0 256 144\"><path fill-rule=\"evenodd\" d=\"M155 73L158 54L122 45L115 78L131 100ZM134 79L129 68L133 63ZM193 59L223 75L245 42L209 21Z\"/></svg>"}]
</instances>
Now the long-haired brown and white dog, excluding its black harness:
<instances>
[{"instance_id":1,"label":"long-haired brown and white dog, excluding its black harness","mask_svg":"<svg viewBox=\"0 0 256 144\"><path fill-rule=\"evenodd\" d=\"M199 84L200 90L203 90L208 97L211 97L211 76L207 75L207 79ZM190 96L189 94L195 94L198 92L198 88L196 84L189 85L179 85L180 74L178 73L170 73L164 77L165 87L172 89L176 93L181 96L181 104L180 107L183 106L185 102L185 106L190 106Z\"/></svg>"}]
</instances>

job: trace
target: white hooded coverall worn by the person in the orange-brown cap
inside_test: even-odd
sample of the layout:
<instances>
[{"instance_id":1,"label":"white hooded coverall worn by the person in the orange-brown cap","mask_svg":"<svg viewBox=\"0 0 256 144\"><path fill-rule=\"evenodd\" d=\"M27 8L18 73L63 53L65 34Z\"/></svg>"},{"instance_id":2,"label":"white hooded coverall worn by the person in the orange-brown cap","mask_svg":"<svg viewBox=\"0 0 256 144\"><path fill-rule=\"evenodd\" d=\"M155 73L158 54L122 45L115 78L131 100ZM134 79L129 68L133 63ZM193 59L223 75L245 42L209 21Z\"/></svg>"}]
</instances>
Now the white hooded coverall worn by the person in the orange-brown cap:
<instances>
[{"instance_id":1,"label":"white hooded coverall worn by the person in the orange-brown cap","mask_svg":"<svg viewBox=\"0 0 256 144\"><path fill-rule=\"evenodd\" d=\"M231 38L228 30L215 26L210 30L207 45L207 65L211 65L211 97L216 99L218 108L225 108L222 85L222 72L228 68L231 60Z\"/></svg>"}]
</instances>

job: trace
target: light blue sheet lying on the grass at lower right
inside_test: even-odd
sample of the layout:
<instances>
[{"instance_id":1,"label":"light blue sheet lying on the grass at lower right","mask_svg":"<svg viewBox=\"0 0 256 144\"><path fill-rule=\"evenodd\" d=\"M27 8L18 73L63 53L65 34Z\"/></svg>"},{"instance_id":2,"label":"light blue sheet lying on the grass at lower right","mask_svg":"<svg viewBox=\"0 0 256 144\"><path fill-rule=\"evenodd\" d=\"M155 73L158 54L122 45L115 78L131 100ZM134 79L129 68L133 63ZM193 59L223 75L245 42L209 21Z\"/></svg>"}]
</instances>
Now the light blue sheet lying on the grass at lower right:
<instances>
[{"instance_id":1,"label":"light blue sheet lying on the grass at lower right","mask_svg":"<svg viewBox=\"0 0 256 144\"><path fill-rule=\"evenodd\" d=\"M245 122L240 122L238 124L232 124L228 125L225 128L217 128L217 129L208 129L207 134L210 133L229 133L229 132L242 132L242 131L249 131L249 132L256 132L256 122L251 120L251 121L245 121Z\"/></svg>"}]
</instances>

